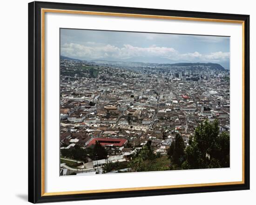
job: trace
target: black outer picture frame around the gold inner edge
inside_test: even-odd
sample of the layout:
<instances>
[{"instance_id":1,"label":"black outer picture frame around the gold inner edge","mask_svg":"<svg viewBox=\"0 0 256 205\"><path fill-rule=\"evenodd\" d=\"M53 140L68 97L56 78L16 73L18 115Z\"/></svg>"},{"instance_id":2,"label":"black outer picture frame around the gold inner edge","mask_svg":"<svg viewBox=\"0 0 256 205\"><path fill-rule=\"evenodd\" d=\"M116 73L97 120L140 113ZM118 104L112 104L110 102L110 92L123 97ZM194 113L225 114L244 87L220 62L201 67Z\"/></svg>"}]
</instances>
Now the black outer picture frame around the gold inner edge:
<instances>
[{"instance_id":1,"label":"black outer picture frame around the gold inner edge","mask_svg":"<svg viewBox=\"0 0 256 205\"><path fill-rule=\"evenodd\" d=\"M41 8L93 11L108 13L131 13L143 15L175 16L202 19L239 20L244 22L244 183L220 186L197 186L170 189L151 189L138 191L81 193L67 195L42 195L41 183ZM32 203L112 199L139 196L156 196L167 194L221 192L249 189L249 15L227 13L205 13L146 9L117 6L98 6L54 2L31 2L28 4L28 201Z\"/></svg>"}]
</instances>

